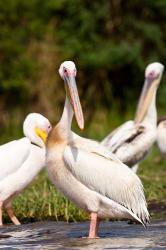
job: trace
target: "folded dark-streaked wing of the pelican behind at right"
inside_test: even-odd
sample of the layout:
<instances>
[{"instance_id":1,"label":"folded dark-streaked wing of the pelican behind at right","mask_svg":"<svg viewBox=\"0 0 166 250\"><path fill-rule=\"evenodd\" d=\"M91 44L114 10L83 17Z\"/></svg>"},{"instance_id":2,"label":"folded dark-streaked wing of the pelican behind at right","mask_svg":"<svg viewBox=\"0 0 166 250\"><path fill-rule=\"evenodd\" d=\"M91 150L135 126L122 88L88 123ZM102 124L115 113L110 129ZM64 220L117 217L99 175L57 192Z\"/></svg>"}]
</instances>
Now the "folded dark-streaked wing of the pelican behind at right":
<instances>
[{"instance_id":1,"label":"folded dark-streaked wing of the pelican behind at right","mask_svg":"<svg viewBox=\"0 0 166 250\"><path fill-rule=\"evenodd\" d=\"M145 130L141 124L135 124L133 121L128 121L122 126L109 134L101 144L108 147L112 153L116 153L117 149L126 142L131 142Z\"/></svg>"}]
</instances>

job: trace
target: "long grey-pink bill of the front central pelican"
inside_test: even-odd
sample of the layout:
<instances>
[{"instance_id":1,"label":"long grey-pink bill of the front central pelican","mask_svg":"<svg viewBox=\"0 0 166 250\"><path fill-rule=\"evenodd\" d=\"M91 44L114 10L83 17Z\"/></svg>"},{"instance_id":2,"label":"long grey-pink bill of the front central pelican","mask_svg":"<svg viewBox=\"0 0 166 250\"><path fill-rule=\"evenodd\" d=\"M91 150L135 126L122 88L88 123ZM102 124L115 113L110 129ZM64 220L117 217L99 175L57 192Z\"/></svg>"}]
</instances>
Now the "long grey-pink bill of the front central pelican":
<instances>
[{"instance_id":1,"label":"long grey-pink bill of the front central pelican","mask_svg":"<svg viewBox=\"0 0 166 250\"><path fill-rule=\"evenodd\" d=\"M73 107L73 111L76 117L76 121L78 123L78 126L80 129L84 128L84 116L82 112L82 107L77 91L75 76L68 75L65 76L65 82L66 82L66 94L70 99L71 105ZM68 88L67 88L68 87Z\"/></svg>"}]
</instances>

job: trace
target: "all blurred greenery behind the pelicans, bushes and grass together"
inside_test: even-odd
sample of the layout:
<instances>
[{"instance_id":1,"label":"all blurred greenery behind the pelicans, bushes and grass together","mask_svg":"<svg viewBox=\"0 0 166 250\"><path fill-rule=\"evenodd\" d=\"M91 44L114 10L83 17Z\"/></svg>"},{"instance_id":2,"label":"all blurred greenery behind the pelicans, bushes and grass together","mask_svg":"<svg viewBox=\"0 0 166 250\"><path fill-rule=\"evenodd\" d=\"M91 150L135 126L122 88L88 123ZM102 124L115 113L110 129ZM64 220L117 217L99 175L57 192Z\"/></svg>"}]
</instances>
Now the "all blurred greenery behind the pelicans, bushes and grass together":
<instances>
[{"instance_id":1,"label":"all blurred greenery behind the pelicans, bushes and grass together","mask_svg":"<svg viewBox=\"0 0 166 250\"><path fill-rule=\"evenodd\" d=\"M134 118L145 67L165 64L165 45L165 0L0 0L0 142L23 135L29 112L53 124L59 120L65 91L58 68L64 60L77 66L83 134L102 139ZM166 115L165 80L166 74L158 90L159 115ZM149 204L166 207L165 162L157 157L154 149L139 175ZM23 220L86 218L55 193L45 173L14 206Z\"/></svg>"}]
</instances>

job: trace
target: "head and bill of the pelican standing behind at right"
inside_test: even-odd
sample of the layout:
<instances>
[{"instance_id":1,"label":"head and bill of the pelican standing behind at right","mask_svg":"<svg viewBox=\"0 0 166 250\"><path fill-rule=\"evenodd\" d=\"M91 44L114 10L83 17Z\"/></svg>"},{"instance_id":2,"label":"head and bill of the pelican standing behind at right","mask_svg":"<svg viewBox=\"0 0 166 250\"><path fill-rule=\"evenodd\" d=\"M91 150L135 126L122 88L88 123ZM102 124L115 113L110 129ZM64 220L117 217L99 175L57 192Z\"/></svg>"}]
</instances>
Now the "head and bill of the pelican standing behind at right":
<instances>
[{"instance_id":1,"label":"head and bill of the pelican standing behind at right","mask_svg":"<svg viewBox=\"0 0 166 250\"><path fill-rule=\"evenodd\" d=\"M147 113L148 107L160 84L164 66L155 62L149 64L145 69L145 82L139 99L135 122L142 122Z\"/></svg>"}]
</instances>

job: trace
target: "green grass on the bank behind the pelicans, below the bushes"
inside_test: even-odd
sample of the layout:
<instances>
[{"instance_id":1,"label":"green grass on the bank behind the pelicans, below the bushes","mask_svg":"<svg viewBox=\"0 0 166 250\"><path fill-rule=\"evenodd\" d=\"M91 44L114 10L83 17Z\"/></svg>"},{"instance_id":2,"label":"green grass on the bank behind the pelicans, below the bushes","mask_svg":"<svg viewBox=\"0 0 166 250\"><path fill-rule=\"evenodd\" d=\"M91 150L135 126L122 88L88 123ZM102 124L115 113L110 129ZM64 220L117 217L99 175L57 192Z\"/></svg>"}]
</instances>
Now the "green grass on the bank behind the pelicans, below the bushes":
<instances>
[{"instance_id":1,"label":"green grass on the bank behind the pelicans, below the bushes","mask_svg":"<svg viewBox=\"0 0 166 250\"><path fill-rule=\"evenodd\" d=\"M112 114L110 117L114 117L114 115ZM123 121L127 120L128 116L125 118L122 117ZM111 123L107 121L109 118L104 114L102 115L103 123L99 122L99 119L101 119L101 116L97 114L95 117L96 122L92 123L88 128L90 138L101 139L112 129L108 126ZM114 123L115 127L118 126L118 120L114 121ZM105 131L106 133L104 133ZM138 175L144 185L152 218L166 218L166 161L160 159L156 146L140 164ZM36 177L34 182L22 194L15 198L13 207L15 214L22 223L45 219L65 220L68 222L83 221L88 218L84 211L78 209L56 190L49 181L45 170ZM4 222L9 222L6 213L4 214Z\"/></svg>"}]
</instances>

